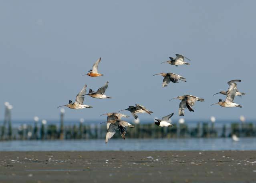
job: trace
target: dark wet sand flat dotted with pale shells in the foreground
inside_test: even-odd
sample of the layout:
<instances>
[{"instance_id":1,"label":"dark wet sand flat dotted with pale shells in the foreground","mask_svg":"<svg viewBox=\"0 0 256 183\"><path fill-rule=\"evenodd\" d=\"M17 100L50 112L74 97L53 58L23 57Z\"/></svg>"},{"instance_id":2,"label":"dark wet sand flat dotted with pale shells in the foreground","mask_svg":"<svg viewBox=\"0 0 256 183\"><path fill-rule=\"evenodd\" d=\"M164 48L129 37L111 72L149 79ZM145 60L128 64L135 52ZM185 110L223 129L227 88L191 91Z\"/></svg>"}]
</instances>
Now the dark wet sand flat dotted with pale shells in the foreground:
<instances>
[{"instance_id":1,"label":"dark wet sand flat dotted with pale shells in the foreground","mask_svg":"<svg viewBox=\"0 0 256 183\"><path fill-rule=\"evenodd\" d=\"M256 151L0 152L0 182L256 182Z\"/></svg>"}]
</instances>

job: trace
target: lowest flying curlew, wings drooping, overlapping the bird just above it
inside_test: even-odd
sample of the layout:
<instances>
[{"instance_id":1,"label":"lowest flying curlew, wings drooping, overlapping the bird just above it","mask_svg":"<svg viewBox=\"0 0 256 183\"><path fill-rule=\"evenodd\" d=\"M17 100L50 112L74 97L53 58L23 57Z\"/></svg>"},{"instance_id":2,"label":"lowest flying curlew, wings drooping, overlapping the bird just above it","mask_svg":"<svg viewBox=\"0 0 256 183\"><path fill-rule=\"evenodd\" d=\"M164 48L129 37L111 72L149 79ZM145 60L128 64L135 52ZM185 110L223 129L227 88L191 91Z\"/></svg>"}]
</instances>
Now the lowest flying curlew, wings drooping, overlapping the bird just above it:
<instances>
[{"instance_id":1,"label":"lowest flying curlew, wings drooping, overlapping the bird just above it","mask_svg":"<svg viewBox=\"0 0 256 183\"><path fill-rule=\"evenodd\" d=\"M119 120L117 116L115 116L115 120L109 120L107 121L107 124L109 123L109 128L106 134L106 140L105 143L109 141L111 137L115 134L116 130L118 129L122 138L125 140L125 134L127 132L127 126L130 128L134 128L132 124L130 124L127 121ZM102 122L104 123L104 122Z\"/></svg>"}]
</instances>

